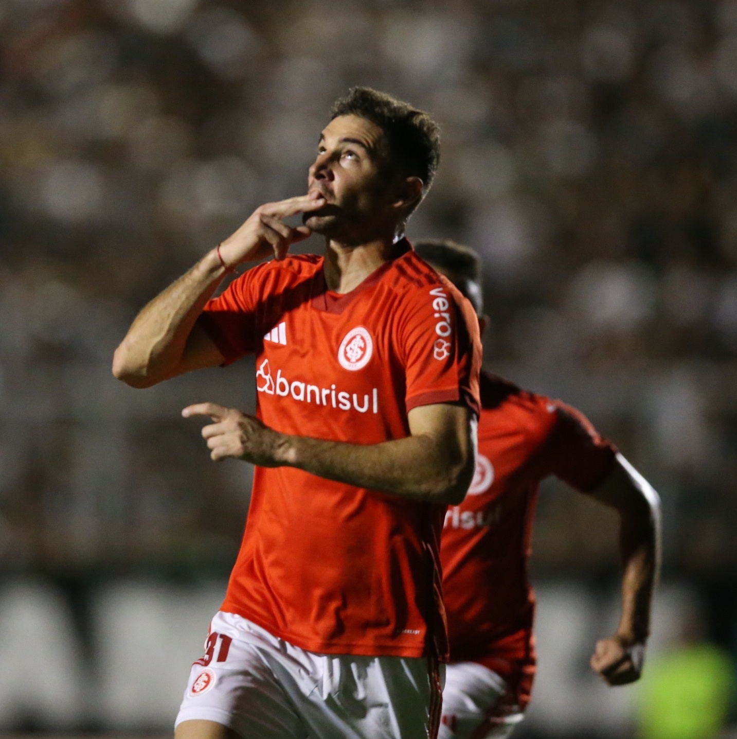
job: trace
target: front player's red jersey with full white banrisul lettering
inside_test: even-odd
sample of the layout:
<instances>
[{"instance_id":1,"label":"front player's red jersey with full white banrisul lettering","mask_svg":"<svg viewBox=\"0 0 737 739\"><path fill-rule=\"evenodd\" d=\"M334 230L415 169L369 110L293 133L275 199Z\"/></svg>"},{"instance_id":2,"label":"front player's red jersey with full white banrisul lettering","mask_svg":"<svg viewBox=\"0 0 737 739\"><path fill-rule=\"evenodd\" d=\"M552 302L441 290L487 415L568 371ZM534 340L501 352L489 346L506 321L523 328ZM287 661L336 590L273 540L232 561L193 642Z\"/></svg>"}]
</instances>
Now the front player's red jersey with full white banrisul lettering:
<instances>
[{"instance_id":1,"label":"front player's red jersey with full white banrisul lettering","mask_svg":"<svg viewBox=\"0 0 737 739\"><path fill-rule=\"evenodd\" d=\"M481 343L470 303L408 242L351 293L323 258L248 270L205 307L227 362L256 354L258 418L286 434L377 444L409 435L408 411L479 412ZM256 467L222 610L318 653L447 654L440 595L444 505Z\"/></svg>"}]
</instances>

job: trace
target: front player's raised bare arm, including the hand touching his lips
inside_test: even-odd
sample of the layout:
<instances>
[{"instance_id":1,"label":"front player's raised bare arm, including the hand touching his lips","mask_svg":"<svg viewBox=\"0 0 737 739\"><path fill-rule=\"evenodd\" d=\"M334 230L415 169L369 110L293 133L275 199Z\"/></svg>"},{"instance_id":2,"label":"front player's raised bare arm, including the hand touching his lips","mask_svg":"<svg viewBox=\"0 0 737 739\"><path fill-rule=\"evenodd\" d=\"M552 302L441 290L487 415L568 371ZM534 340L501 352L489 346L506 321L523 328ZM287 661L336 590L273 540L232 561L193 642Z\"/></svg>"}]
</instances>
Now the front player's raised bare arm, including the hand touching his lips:
<instances>
[{"instance_id":1,"label":"front player's raised bare arm, including the hand touching his lips","mask_svg":"<svg viewBox=\"0 0 737 739\"><path fill-rule=\"evenodd\" d=\"M209 251L185 275L169 285L136 316L115 350L112 372L131 387L144 388L202 367L222 364L216 344L196 323L205 303L230 268L273 253L284 259L289 246L309 236L309 228L291 228L282 219L324 205L304 195L267 203L219 247Z\"/></svg>"}]
</instances>

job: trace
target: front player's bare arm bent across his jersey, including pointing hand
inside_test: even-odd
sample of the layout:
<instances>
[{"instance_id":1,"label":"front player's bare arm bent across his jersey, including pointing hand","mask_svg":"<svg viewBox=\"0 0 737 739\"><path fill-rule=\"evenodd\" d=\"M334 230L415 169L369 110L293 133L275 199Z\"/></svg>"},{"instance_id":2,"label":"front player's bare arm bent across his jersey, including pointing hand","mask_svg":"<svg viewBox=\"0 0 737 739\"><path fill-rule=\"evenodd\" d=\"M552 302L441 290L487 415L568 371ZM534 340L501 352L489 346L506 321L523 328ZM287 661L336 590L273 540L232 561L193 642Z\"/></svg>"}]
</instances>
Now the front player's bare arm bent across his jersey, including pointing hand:
<instances>
[{"instance_id":1,"label":"front player's bare arm bent across his jersey, including pointing hand","mask_svg":"<svg viewBox=\"0 0 737 739\"><path fill-rule=\"evenodd\" d=\"M340 483L435 503L460 503L476 464L476 418L466 406L436 403L408 413L410 436L352 444L275 432L215 403L182 411L209 415L202 429L217 461L236 457L264 467L290 466Z\"/></svg>"}]
</instances>

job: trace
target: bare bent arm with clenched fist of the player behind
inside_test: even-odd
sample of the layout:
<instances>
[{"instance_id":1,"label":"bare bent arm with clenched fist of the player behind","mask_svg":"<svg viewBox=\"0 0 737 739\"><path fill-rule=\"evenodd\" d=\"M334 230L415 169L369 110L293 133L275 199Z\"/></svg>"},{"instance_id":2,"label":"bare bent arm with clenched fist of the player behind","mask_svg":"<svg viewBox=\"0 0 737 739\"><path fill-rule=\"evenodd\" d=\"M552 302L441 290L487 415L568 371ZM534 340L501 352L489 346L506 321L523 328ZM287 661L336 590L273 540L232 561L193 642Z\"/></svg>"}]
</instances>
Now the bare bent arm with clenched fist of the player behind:
<instances>
[{"instance_id":1,"label":"bare bent arm with clenched fist of the player behind","mask_svg":"<svg viewBox=\"0 0 737 739\"><path fill-rule=\"evenodd\" d=\"M610 685L624 685L640 678L650 633L660 565L660 499L622 454L617 454L611 472L591 495L620 514L624 563L620 625L613 636L597 642L591 666Z\"/></svg>"}]
</instances>

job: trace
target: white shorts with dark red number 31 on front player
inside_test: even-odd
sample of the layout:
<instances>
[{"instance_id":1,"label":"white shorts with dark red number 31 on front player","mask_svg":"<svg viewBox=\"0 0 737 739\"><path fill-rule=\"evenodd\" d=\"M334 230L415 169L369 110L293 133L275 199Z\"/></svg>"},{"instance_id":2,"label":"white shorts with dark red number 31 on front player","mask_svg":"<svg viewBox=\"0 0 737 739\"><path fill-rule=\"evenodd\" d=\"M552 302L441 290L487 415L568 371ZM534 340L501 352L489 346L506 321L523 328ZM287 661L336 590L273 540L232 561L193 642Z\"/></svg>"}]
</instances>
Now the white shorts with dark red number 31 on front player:
<instances>
[{"instance_id":1,"label":"white shorts with dark red number 31 on front player","mask_svg":"<svg viewBox=\"0 0 737 739\"><path fill-rule=\"evenodd\" d=\"M210 624L175 726L205 719L244 739L435 739L442 665L306 652L234 613Z\"/></svg>"}]
</instances>

